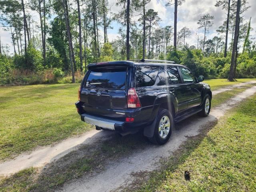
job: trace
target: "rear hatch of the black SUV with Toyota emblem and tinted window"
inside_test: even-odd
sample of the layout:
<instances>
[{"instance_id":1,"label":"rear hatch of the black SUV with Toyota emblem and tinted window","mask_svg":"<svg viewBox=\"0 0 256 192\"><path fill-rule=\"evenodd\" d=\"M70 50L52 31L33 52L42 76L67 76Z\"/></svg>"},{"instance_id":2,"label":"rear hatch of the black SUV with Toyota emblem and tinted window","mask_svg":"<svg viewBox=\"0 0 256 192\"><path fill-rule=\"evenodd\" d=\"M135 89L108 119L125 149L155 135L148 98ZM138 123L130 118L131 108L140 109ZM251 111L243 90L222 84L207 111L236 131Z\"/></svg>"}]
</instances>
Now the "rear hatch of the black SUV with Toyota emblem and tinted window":
<instances>
[{"instance_id":1,"label":"rear hatch of the black SUV with Toyota emblem and tinted window","mask_svg":"<svg viewBox=\"0 0 256 192\"><path fill-rule=\"evenodd\" d=\"M80 95L84 111L92 115L123 120L124 114L121 111L127 108L127 70L127 67L89 70Z\"/></svg>"}]
</instances>

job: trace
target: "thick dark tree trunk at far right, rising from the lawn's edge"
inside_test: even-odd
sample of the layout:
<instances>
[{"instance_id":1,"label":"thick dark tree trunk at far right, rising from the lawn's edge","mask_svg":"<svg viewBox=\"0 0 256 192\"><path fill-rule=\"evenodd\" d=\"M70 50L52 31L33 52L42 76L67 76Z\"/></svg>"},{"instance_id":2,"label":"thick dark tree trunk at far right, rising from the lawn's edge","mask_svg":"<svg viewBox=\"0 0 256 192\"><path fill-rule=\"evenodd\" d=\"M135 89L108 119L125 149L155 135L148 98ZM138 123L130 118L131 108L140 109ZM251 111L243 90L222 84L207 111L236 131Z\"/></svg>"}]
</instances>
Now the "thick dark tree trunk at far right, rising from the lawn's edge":
<instances>
[{"instance_id":1,"label":"thick dark tree trunk at far right, rising from the lawn's edge","mask_svg":"<svg viewBox=\"0 0 256 192\"><path fill-rule=\"evenodd\" d=\"M235 62L236 62L236 52L237 52L238 35L239 35L240 7L241 7L241 0L237 0L235 35L234 35L234 43L233 43L233 48L232 48L230 74L228 76L229 81L234 80L234 67L235 67Z\"/></svg>"}]
</instances>

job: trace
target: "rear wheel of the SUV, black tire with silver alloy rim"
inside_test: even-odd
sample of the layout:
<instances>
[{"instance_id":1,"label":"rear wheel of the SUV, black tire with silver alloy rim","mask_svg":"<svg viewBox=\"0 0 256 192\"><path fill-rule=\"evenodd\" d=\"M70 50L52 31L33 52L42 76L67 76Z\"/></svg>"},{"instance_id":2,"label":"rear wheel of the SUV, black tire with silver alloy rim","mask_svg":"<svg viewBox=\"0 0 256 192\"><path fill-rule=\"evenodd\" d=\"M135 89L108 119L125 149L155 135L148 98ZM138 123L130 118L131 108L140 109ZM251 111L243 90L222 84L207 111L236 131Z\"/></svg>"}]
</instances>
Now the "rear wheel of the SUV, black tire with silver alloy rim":
<instances>
[{"instance_id":1,"label":"rear wheel of the SUV, black tire with silver alloy rim","mask_svg":"<svg viewBox=\"0 0 256 192\"><path fill-rule=\"evenodd\" d=\"M148 140L154 144L163 145L169 140L172 134L174 120L172 113L170 113L167 109L163 109L156 118L157 121L154 135L151 138L148 137Z\"/></svg>"}]
</instances>

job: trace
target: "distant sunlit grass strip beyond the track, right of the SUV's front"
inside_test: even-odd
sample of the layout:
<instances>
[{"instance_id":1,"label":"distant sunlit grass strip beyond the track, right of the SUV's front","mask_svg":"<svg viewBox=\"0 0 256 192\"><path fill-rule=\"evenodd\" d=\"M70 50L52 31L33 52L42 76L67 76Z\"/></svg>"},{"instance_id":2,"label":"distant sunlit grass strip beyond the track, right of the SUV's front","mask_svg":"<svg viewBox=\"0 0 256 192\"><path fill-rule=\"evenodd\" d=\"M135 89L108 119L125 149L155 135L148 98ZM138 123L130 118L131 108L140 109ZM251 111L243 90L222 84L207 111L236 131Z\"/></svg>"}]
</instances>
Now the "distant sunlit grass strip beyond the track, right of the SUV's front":
<instances>
[{"instance_id":1,"label":"distant sunlit grass strip beyond the track, right of the SUV's front","mask_svg":"<svg viewBox=\"0 0 256 192\"><path fill-rule=\"evenodd\" d=\"M216 90L218 88L222 88L225 86L234 85L238 83L248 82L251 80L256 80L256 78L236 79L236 81L233 81L233 82L230 82L226 79L209 79L209 80L204 80L203 82L208 83L211 87L211 90Z\"/></svg>"}]
</instances>

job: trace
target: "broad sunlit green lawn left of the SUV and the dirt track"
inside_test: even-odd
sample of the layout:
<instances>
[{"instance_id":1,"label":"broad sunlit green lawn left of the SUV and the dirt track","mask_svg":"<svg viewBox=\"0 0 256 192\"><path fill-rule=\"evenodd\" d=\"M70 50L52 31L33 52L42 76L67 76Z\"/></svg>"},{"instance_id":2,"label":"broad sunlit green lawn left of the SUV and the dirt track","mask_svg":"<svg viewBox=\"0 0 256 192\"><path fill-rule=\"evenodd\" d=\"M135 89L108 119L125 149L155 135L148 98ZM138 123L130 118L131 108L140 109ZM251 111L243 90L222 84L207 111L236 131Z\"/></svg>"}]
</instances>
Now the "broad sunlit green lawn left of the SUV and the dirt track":
<instances>
[{"instance_id":1,"label":"broad sunlit green lawn left of the SUV and the dirt track","mask_svg":"<svg viewBox=\"0 0 256 192\"><path fill-rule=\"evenodd\" d=\"M81 134L79 84L0 87L0 160Z\"/></svg>"}]
</instances>

